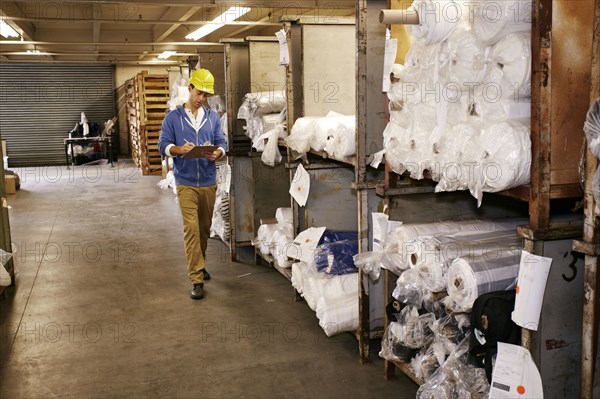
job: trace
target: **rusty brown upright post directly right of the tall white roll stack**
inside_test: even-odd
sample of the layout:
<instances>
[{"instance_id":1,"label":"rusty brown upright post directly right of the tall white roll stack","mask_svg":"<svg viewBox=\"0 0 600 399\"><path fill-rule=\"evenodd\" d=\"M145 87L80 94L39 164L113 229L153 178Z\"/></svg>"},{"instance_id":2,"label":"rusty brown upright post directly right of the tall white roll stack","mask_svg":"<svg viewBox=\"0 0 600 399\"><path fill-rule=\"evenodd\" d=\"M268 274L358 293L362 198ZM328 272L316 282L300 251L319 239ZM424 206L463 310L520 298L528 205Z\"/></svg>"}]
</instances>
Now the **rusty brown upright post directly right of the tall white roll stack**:
<instances>
[{"instance_id":1,"label":"rusty brown upright post directly right of the tall white roll stack","mask_svg":"<svg viewBox=\"0 0 600 399\"><path fill-rule=\"evenodd\" d=\"M552 136L552 0L535 0L531 30L531 198L529 226L550 225L550 142Z\"/></svg>"}]
</instances>

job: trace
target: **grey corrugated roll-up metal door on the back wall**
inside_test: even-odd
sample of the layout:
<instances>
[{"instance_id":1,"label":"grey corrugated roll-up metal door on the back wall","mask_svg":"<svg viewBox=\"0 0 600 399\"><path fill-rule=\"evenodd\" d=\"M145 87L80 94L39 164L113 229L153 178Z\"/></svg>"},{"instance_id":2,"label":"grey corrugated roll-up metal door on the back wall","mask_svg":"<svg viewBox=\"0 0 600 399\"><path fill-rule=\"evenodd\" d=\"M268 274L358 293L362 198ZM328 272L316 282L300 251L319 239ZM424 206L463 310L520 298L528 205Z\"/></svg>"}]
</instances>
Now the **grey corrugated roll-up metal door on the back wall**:
<instances>
[{"instance_id":1,"label":"grey corrugated roll-up metal door on the back wall","mask_svg":"<svg viewBox=\"0 0 600 399\"><path fill-rule=\"evenodd\" d=\"M113 118L114 93L111 65L0 64L0 131L9 167L64 164L63 139L81 113L88 122Z\"/></svg>"}]
</instances>

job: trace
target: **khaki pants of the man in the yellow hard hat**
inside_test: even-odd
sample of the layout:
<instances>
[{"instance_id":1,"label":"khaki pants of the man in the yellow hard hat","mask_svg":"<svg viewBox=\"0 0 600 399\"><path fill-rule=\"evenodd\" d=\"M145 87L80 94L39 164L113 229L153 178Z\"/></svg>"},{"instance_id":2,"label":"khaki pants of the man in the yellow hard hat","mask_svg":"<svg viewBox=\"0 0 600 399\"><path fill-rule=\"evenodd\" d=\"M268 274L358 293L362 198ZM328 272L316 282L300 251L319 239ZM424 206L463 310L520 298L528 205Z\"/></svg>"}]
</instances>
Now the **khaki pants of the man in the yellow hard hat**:
<instances>
[{"instance_id":1,"label":"khaki pants of the man in the yellow hard hat","mask_svg":"<svg viewBox=\"0 0 600 399\"><path fill-rule=\"evenodd\" d=\"M206 246L210 236L210 224L217 186L177 186L179 209L183 219L183 240L188 263L188 276L192 284L202 283Z\"/></svg>"}]
</instances>

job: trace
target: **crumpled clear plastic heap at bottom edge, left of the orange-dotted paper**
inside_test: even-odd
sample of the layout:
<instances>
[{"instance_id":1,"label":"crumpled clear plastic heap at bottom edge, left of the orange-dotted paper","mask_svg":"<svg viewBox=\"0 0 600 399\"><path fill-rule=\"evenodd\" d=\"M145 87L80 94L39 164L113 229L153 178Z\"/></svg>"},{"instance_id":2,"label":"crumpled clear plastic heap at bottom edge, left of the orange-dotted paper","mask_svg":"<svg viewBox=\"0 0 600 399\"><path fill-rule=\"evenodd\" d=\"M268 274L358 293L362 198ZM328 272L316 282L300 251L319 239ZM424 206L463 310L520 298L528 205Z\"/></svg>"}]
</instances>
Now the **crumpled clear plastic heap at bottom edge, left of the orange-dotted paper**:
<instances>
[{"instance_id":1,"label":"crumpled clear plastic heap at bottom edge, left of the orange-dotted paper","mask_svg":"<svg viewBox=\"0 0 600 399\"><path fill-rule=\"evenodd\" d=\"M469 364L468 350L467 336L419 387L417 399L487 399L490 385L485 371Z\"/></svg>"}]
</instances>

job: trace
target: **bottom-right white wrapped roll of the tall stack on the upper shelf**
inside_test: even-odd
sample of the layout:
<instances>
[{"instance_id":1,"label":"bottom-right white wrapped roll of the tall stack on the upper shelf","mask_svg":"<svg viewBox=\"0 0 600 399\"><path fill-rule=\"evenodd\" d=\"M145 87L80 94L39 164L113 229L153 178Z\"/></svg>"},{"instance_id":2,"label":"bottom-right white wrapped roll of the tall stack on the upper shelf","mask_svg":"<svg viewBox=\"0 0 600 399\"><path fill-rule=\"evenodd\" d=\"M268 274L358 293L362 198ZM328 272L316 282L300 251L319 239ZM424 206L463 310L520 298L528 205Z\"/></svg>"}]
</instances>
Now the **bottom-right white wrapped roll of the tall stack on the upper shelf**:
<instances>
[{"instance_id":1,"label":"bottom-right white wrapped roll of the tall stack on the upper shelf","mask_svg":"<svg viewBox=\"0 0 600 399\"><path fill-rule=\"evenodd\" d=\"M491 125L482 132L482 155L479 162L481 190L498 192L528 184L531 165L531 128L520 121Z\"/></svg>"}]
</instances>

